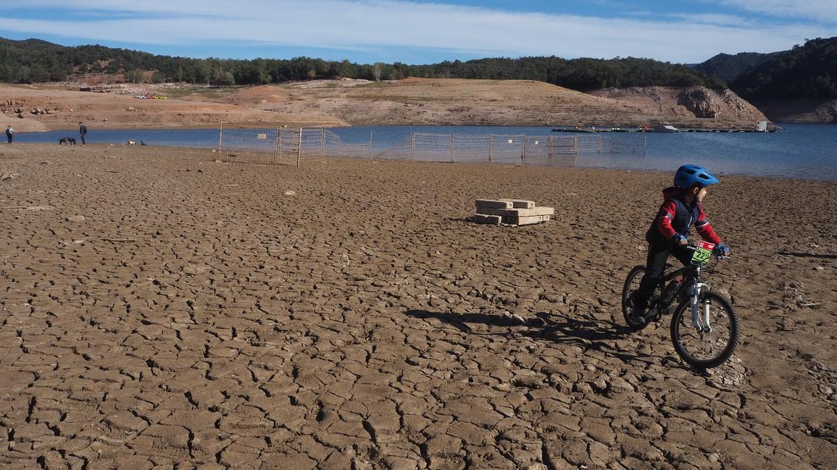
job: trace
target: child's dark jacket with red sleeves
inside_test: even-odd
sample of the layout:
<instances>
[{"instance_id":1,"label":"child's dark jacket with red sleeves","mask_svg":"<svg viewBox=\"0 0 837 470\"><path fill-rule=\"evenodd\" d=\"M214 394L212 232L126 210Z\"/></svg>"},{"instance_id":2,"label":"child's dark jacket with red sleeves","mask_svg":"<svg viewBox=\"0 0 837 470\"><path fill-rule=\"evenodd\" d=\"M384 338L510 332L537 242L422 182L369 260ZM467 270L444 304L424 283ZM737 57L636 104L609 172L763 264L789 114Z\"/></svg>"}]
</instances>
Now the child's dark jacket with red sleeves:
<instances>
[{"instance_id":1,"label":"child's dark jacket with red sleeves","mask_svg":"<svg viewBox=\"0 0 837 470\"><path fill-rule=\"evenodd\" d=\"M660 206L660 212L657 212L657 217L645 233L645 240L648 243L655 246L669 245L672 242L671 238L677 234L689 237L692 225L701 234L701 238L707 242L721 243L721 238L718 238L712 226L709 225L709 221L706 220L706 214L700 203L695 201L687 204L683 200L683 190L676 186L665 188L663 197L665 202Z\"/></svg>"}]
</instances>

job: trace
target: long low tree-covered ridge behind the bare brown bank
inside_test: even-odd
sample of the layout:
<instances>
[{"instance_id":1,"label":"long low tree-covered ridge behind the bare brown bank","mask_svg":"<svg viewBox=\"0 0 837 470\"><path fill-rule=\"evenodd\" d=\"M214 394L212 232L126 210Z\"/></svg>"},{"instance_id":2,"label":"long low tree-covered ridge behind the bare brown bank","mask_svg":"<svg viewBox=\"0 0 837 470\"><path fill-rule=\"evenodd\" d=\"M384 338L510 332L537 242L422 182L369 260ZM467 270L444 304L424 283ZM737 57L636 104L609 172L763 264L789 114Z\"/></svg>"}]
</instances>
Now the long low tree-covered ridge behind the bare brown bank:
<instances>
[{"instance_id":1,"label":"long low tree-covered ridge behind the bare brown bank","mask_svg":"<svg viewBox=\"0 0 837 470\"><path fill-rule=\"evenodd\" d=\"M569 89L590 90L629 86L691 86L726 88L715 77L685 65L651 59L477 59L439 64L355 64L348 60L188 59L153 55L100 45L64 47L39 39L0 38L0 82L59 81L87 73L124 74L141 81L153 70L153 81L208 84L265 84L305 79L531 79Z\"/></svg>"}]
</instances>

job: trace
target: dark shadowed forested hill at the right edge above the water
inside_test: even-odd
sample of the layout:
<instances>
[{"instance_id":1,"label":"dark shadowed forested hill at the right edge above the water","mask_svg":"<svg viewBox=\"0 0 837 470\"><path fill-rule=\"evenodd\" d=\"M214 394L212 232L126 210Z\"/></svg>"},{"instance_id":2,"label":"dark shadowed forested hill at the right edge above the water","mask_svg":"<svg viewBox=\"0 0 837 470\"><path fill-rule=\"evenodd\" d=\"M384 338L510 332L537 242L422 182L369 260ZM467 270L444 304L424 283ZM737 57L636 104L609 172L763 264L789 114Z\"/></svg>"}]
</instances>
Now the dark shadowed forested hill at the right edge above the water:
<instances>
[{"instance_id":1,"label":"dark shadowed forested hill at the right edge above the water","mask_svg":"<svg viewBox=\"0 0 837 470\"><path fill-rule=\"evenodd\" d=\"M837 99L837 38L816 38L772 54L732 80L746 100Z\"/></svg>"}]
</instances>

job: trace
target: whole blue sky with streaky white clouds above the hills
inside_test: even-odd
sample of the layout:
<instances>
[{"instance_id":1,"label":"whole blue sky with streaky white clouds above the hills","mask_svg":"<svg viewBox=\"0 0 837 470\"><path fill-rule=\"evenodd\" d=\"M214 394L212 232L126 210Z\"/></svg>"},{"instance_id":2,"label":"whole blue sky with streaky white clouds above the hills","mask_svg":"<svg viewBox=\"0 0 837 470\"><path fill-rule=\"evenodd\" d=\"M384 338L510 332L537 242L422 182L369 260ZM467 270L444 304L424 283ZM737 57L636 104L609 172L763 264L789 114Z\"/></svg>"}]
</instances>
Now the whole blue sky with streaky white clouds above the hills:
<instances>
[{"instance_id":1,"label":"whole blue sky with streaky white clouds above the hills","mask_svg":"<svg viewBox=\"0 0 837 470\"><path fill-rule=\"evenodd\" d=\"M0 36L186 57L696 63L837 36L837 0L21 0Z\"/></svg>"}]
</instances>

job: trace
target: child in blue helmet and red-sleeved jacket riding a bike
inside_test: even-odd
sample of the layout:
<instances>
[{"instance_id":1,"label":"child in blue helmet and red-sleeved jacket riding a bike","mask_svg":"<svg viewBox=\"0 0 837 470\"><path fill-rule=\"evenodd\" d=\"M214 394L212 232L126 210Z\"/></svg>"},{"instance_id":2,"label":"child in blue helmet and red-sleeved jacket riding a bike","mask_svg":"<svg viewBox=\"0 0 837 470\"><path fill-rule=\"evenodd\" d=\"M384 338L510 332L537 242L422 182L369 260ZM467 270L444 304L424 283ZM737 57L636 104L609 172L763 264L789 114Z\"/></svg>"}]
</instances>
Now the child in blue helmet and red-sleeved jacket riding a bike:
<instances>
[{"instance_id":1,"label":"child in blue helmet and red-sleeved jacket riding a bike","mask_svg":"<svg viewBox=\"0 0 837 470\"><path fill-rule=\"evenodd\" d=\"M695 226L701 238L716 244L716 251L724 256L729 255L729 248L721 243L712 226L706 220L701 202L706 197L706 186L720 181L703 166L684 165L675 172L675 186L663 190L665 202L660 206L654 222L645 240L649 243L648 259L645 263L646 271L634 294L634 308L631 315L639 323L645 323L658 314L656 309L648 308L648 300L654 294L660 277L665 270L665 261L669 254L680 260L684 265L691 262L692 252L686 248L692 225Z\"/></svg>"}]
</instances>

